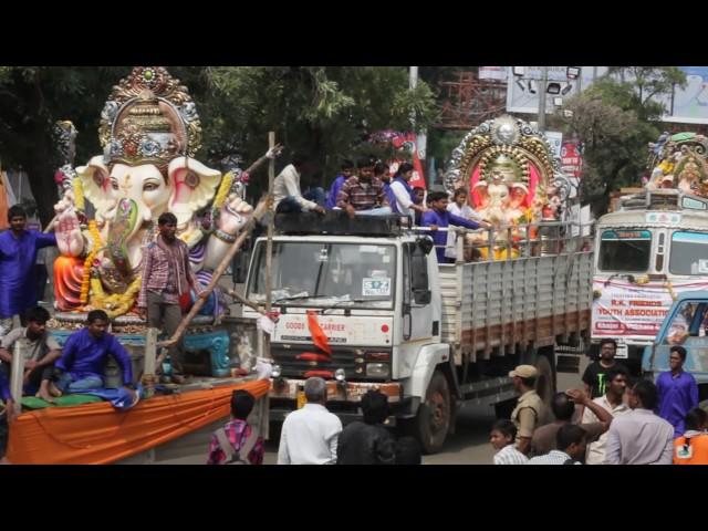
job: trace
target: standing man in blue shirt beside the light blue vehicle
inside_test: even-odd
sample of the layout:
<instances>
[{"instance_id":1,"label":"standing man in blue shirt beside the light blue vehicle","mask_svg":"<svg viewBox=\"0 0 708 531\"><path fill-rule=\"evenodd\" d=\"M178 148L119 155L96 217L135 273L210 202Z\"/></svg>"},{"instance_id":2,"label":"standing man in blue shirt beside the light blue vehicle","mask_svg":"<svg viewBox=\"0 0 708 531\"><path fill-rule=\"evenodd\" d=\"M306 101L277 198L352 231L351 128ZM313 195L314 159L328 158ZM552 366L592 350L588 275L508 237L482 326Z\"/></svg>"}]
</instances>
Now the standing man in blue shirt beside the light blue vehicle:
<instances>
[{"instance_id":1,"label":"standing man in blue shirt beside the light blue vehicle","mask_svg":"<svg viewBox=\"0 0 708 531\"><path fill-rule=\"evenodd\" d=\"M694 407L698 407L698 385L684 371L686 348L671 346L668 357L670 371L662 373L656 381L659 394L659 417L674 426L674 437L684 435L684 418Z\"/></svg>"}]
</instances>

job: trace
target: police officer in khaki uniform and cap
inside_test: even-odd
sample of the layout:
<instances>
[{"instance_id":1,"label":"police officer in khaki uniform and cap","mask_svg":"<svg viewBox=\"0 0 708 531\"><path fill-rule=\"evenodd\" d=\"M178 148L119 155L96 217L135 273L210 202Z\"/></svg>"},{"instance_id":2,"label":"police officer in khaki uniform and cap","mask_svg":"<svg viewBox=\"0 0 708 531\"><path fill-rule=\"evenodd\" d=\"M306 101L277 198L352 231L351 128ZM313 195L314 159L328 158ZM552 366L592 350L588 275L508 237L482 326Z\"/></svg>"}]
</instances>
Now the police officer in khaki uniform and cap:
<instances>
[{"instance_id":1,"label":"police officer in khaki uniform and cap","mask_svg":"<svg viewBox=\"0 0 708 531\"><path fill-rule=\"evenodd\" d=\"M543 402L534 391L539 372L533 365L519 365L509 373L513 378L513 387L519 393L519 402L511 413L511 420L517 426L517 448L528 455L531 450L531 436L540 425Z\"/></svg>"}]
</instances>

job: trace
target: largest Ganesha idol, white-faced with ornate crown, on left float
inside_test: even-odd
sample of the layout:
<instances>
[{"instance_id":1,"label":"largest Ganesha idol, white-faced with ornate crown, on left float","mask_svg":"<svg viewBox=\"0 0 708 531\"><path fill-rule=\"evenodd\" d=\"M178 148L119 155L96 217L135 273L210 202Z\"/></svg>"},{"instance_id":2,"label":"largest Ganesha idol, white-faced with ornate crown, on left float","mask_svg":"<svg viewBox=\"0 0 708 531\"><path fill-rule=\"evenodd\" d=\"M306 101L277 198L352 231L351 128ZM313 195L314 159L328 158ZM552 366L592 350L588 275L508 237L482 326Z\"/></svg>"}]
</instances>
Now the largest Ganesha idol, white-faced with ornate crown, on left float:
<instances>
[{"instance_id":1,"label":"largest Ganesha idol, white-faced with ornate crown, on left float","mask_svg":"<svg viewBox=\"0 0 708 531\"><path fill-rule=\"evenodd\" d=\"M111 317L134 310L143 250L166 211L176 215L192 270L208 283L252 208L231 175L194 158L201 124L187 88L163 67L136 67L114 86L98 133L104 154L76 168L55 207L56 309L101 309ZM93 219L86 218L86 199ZM221 311L217 298L207 311Z\"/></svg>"}]
</instances>

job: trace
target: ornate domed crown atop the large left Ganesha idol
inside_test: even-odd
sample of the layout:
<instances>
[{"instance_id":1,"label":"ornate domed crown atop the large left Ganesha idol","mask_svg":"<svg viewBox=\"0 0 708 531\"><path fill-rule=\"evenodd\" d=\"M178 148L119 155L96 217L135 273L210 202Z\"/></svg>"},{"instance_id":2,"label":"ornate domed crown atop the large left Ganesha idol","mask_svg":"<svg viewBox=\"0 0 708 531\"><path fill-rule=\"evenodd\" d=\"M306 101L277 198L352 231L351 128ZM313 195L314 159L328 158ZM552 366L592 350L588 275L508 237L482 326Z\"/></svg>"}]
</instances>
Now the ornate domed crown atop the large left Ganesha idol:
<instances>
[{"instance_id":1,"label":"ornate domed crown atop the large left Ganesha idol","mask_svg":"<svg viewBox=\"0 0 708 531\"><path fill-rule=\"evenodd\" d=\"M185 86L166 69L138 66L113 88L101 113L106 164L168 164L194 156L201 126Z\"/></svg>"}]
</instances>

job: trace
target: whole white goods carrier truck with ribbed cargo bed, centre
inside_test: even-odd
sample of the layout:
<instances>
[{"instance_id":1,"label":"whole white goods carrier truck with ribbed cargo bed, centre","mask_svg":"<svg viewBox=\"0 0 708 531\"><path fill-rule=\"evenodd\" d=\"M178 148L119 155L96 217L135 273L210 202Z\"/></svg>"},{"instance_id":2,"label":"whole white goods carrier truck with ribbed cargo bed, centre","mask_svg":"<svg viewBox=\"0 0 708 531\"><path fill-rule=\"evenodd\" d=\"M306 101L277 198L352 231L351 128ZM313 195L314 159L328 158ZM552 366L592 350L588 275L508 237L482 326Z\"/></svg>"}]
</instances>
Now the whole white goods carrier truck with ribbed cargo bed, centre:
<instances>
[{"instance_id":1,"label":"whole white goods carrier truck with ribbed cargo bed, centre","mask_svg":"<svg viewBox=\"0 0 708 531\"><path fill-rule=\"evenodd\" d=\"M554 239L562 223L537 225L538 238L516 259L438 263L423 232L389 218L346 219L277 219L271 419L299 407L304 381L320 375L327 408L343 420L360 414L363 393L379 389L392 420L435 452L462 403L509 407L518 364L538 367L538 391L550 398L555 345L577 343L591 322L593 253ZM553 246L559 252L549 254ZM248 271L246 295L256 302L266 296L266 248L260 238ZM244 308L243 317L259 314ZM313 343L315 323L331 355Z\"/></svg>"}]
</instances>

